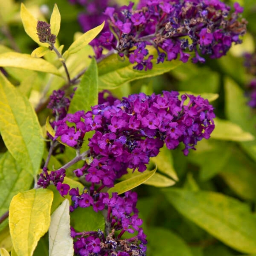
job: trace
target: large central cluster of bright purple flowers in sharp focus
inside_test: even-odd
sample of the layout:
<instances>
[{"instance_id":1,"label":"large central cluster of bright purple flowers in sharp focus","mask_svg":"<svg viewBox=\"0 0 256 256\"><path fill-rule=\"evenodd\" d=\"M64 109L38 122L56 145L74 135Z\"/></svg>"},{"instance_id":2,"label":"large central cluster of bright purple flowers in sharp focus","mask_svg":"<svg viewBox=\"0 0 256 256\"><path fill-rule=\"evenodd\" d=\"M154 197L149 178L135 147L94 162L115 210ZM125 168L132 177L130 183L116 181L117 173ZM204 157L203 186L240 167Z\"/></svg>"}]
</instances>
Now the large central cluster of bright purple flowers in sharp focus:
<instances>
[{"instance_id":1,"label":"large central cluster of bright purple flowers in sharp focus","mask_svg":"<svg viewBox=\"0 0 256 256\"><path fill-rule=\"evenodd\" d=\"M174 149L185 145L184 155L203 138L210 138L214 129L213 107L200 96L163 91L163 95L144 93L129 95L121 101L105 101L84 113L78 111L56 125L56 135L68 146L80 148L86 132L89 153L82 169L75 170L87 182L112 187L114 181L127 173L127 168L146 170L150 157L158 155L165 143ZM185 104L185 100L188 103Z\"/></svg>"}]
</instances>

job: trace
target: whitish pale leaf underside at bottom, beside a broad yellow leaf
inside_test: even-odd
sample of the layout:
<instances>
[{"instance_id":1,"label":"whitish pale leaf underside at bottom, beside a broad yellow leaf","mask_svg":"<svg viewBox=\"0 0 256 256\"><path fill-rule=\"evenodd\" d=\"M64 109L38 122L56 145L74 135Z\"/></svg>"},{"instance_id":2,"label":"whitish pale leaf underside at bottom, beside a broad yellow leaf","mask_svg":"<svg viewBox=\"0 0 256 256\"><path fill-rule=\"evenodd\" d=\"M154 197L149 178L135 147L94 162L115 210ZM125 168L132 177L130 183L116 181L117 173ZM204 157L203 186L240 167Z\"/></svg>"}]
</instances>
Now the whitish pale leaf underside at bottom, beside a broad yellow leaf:
<instances>
[{"instance_id":1,"label":"whitish pale leaf underside at bottom, beside a broad yellow leaf","mask_svg":"<svg viewBox=\"0 0 256 256\"><path fill-rule=\"evenodd\" d=\"M49 256L73 256L73 239L70 236L69 202L63 203L53 212L49 227Z\"/></svg>"}]
</instances>

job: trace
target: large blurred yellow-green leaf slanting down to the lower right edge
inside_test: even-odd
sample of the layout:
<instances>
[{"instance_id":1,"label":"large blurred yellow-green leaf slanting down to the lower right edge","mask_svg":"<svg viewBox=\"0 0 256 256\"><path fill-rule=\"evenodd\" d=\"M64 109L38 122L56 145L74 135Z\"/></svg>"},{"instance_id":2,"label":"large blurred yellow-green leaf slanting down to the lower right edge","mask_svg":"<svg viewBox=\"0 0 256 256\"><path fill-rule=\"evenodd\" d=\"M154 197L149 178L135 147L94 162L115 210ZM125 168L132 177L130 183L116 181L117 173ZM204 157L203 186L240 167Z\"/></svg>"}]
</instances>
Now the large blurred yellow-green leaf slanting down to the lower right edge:
<instances>
[{"instance_id":1,"label":"large blurred yellow-green leaf slanting down to the lower right edge","mask_svg":"<svg viewBox=\"0 0 256 256\"><path fill-rule=\"evenodd\" d=\"M223 243L256 253L256 217L245 203L216 192L163 188L178 212Z\"/></svg>"}]
</instances>

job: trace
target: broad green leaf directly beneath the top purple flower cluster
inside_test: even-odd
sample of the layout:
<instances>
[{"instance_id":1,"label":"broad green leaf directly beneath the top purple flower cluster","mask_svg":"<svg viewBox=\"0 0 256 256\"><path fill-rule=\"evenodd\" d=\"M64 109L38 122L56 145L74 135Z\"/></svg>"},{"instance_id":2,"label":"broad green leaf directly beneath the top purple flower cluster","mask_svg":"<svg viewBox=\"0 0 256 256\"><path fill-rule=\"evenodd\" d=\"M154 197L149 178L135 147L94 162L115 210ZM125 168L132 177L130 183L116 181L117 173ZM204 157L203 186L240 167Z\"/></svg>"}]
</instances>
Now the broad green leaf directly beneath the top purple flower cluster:
<instances>
[{"instance_id":1,"label":"broad green leaf directly beneath the top purple flower cluster","mask_svg":"<svg viewBox=\"0 0 256 256\"><path fill-rule=\"evenodd\" d=\"M152 59L153 68L147 71L133 69L135 64L131 64L127 58L121 61L120 58L118 59L117 54L112 54L99 62L99 88L107 90L114 89L125 82L161 75L165 72L169 72L182 63L180 60L172 60L155 64L157 51L150 48L149 54L153 54L155 57Z\"/></svg>"}]
</instances>

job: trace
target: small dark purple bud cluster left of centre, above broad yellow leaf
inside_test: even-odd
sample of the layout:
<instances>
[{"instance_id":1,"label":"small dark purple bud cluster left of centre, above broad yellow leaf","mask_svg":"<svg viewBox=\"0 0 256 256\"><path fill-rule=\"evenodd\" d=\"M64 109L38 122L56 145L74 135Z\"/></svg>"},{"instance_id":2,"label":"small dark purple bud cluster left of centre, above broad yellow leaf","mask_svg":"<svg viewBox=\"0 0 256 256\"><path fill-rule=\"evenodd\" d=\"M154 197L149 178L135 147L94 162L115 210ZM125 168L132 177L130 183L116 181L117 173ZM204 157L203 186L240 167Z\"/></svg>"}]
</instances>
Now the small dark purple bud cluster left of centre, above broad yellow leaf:
<instances>
[{"instance_id":1,"label":"small dark purple bud cluster left of centre, above broad yellow leaf","mask_svg":"<svg viewBox=\"0 0 256 256\"><path fill-rule=\"evenodd\" d=\"M70 187L68 184L63 183L65 175L66 173L64 169L48 173L47 169L43 168L43 172L40 173L37 185L42 188L47 188L49 185L53 184L60 192L61 196L67 195Z\"/></svg>"}]
</instances>

